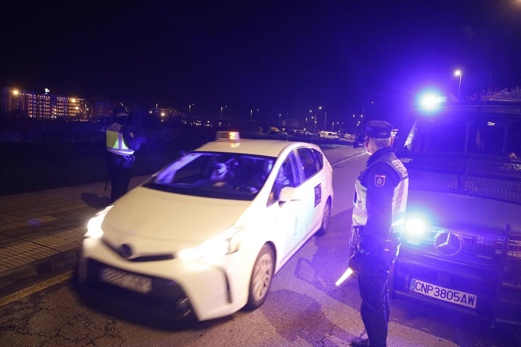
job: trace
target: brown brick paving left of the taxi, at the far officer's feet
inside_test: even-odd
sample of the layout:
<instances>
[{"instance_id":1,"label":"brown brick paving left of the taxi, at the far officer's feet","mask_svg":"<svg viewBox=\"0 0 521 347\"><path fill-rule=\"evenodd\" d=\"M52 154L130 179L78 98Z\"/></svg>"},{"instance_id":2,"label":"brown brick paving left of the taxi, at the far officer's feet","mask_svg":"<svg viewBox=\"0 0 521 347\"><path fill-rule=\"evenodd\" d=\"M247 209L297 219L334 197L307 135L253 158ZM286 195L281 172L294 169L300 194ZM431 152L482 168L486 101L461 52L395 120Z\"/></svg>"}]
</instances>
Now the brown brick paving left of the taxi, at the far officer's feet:
<instances>
[{"instance_id":1,"label":"brown brick paving left of the taxi, at the far officer's feet","mask_svg":"<svg viewBox=\"0 0 521 347\"><path fill-rule=\"evenodd\" d=\"M147 176L132 178L130 188ZM110 184L0 196L0 272L81 245L86 225L110 202Z\"/></svg>"}]
</instances>

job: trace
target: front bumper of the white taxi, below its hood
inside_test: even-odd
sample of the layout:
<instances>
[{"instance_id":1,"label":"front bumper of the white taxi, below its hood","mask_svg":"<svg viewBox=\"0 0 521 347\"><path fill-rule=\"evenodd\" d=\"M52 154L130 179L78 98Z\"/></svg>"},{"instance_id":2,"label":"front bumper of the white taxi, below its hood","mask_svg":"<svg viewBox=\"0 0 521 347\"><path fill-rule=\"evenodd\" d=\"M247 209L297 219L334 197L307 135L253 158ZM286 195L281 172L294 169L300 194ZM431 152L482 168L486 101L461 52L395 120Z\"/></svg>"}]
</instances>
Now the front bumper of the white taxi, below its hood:
<instances>
[{"instance_id":1,"label":"front bumper of the white taxi, below its hood","mask_svg":"<svg viewBox=\"0 0 521 347\"><path fill-rule=\"evenodd\" d=\"M230 256L227 261L233 263ZM100 281L103 268L150 278L152 290L142 295L175 303L183 315L194 314L199 320L229 315L242 308L247 300L242 294L247 293L241 285L244 281L239 283L239 276L235 276L232 283L227 264L188 262L179 258L132 262L120 257L101 239L83 240L80 283Z\"/></svg>"}]
</instances>

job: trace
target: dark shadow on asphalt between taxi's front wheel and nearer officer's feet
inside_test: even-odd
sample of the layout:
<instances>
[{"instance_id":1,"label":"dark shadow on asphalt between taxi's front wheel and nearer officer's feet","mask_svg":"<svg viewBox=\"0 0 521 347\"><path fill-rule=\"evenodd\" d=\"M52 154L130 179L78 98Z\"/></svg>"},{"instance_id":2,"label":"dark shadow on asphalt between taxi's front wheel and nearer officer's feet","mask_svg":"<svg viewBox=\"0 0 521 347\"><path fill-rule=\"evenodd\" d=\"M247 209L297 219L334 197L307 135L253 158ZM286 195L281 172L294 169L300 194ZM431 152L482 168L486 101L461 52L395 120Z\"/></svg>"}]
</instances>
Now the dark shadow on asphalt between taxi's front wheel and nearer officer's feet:
<instances>
[{"instance_id":1,"label":"dark shadow on asphalt between taxi's front wheel and nearer officer's feet","mask_svg":"<svg viewBox=\"0 0 521 347\"><path fill-rule=\"evenodd\" d=\"M261 311L278 334L289 342L299 337L311 345L336 346L331 340L334 336L349 343L354 337L326 317L322 307L311 296L281 289L270 292Z\"/></svg>"}]
</instances>

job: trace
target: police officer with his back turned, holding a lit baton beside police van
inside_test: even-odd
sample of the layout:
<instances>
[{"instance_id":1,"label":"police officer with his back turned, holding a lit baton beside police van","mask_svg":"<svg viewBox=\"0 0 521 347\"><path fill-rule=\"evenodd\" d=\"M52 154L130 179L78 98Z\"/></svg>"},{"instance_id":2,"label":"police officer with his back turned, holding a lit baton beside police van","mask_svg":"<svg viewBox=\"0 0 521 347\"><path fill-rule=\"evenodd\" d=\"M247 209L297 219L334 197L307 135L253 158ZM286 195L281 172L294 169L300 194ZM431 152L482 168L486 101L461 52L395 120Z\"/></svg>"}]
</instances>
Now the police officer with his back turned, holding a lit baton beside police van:
<instances>
[{"instance_id":1,"label":"police officer with his back turned, holding a lit baton beside police van","mask_svg":"<svg viewBox=\"0 0 521 347\"><path fill-rule=\"evenodd\" d=\"M357 271L360 314L367 339L352 346L386 346L389 324L389 270L398 255L407 203L407 170L394 155L392 125L372 120L365 129L370 157L355 183L353 228L359 238L349 267Z\"/></svg>"}]
</instances>

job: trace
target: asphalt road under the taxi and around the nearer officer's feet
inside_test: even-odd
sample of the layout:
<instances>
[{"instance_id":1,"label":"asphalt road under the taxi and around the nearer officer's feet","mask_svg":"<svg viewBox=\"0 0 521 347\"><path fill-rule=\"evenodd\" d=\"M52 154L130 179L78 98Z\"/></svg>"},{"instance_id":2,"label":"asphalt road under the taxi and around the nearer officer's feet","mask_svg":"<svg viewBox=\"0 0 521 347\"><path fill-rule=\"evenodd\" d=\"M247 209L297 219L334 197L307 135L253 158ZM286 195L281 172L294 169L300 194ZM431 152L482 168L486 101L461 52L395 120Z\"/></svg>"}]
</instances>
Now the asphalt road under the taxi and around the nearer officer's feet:
<instances>
[{"instance_id":1,"label":"asphalt road under the taxi and around the nearer officer's feet","mask_svg":"<svg viewBox=\"0 0 521 347\"><path fill-rule=\"evenodd\" d=\"M0 307L1 346L345 346L364 333L347 265L353 182L366 156L334 168L335 201L324 237L313 237L275 276L253 312L180 325L168 309L111 293L82 293L74 277ZM67 276L65 276L67 277ZM389 346L510 346L510 329L403 300L391 301Z\"/></svg>"}]
</instances>

